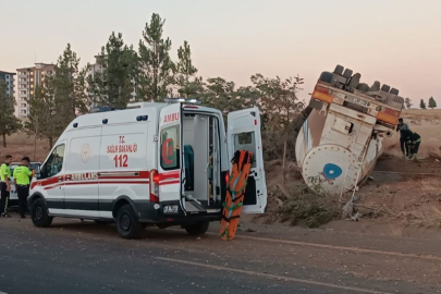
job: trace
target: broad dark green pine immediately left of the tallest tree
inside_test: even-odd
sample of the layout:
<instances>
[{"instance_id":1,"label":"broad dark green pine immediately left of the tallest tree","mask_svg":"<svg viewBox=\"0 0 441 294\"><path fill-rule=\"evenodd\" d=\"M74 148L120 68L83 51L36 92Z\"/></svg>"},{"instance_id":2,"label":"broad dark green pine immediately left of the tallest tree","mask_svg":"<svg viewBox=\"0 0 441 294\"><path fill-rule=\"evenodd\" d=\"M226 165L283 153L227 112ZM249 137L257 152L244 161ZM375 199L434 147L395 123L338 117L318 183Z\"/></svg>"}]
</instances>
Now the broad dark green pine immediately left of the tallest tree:
<instances>
[{"instance_id":1,"label":"broad dark green pine immediately left of the tallest tree","mask_svg":"<svg viewBox=\"0 0 441 294\"><path fill-rule=\"evenodd\" d=\"M87 90L95 106L124 108L133 97L137 53L112 32L97 58L101 70L87 76Z\"/></svg>"}]
</instances>

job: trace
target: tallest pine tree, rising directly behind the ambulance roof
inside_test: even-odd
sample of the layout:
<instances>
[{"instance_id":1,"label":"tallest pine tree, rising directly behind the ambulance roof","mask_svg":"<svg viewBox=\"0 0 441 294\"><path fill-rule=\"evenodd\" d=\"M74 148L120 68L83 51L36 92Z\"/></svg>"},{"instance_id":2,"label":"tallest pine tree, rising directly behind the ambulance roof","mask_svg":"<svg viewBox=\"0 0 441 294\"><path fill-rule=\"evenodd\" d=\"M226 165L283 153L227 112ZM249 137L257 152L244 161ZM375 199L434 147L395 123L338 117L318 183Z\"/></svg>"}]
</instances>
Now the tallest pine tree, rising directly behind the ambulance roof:
<instances>
[{"instance_id":1,"label":"tallest pine tree, rising directly behind the ambulance roof","mask_svg":"<svg viewBox=\"0 0 441 294\"><path fill-rule=\"evenodd\" d=\"M140 100L159 101L171 93L173 62L170 59L171 40L163 39L163 25L159 14L151 15L139 40L138 91Z\"/></svg>"}]
</instances>

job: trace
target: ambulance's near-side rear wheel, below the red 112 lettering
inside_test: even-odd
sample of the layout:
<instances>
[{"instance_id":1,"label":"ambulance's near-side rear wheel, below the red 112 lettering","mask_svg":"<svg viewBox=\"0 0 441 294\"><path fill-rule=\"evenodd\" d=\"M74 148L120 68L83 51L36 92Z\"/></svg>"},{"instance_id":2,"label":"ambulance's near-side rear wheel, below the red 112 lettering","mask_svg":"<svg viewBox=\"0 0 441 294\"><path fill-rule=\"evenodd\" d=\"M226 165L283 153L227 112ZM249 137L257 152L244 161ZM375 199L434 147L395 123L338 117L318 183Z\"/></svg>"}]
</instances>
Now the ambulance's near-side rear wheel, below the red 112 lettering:
<instances>
[{"instance_id":1,"label":"ambulance's near-side rear wheel, below the red 112 lettering","mask_svg":"<svg viewBox=\"0 0 441 294\"><path fill-rule=\"evenodd\" d=\"M131 205L124 205L118 210L117 228L122 238L137 238L144 230Z\"/></svg>"}]
</instances>

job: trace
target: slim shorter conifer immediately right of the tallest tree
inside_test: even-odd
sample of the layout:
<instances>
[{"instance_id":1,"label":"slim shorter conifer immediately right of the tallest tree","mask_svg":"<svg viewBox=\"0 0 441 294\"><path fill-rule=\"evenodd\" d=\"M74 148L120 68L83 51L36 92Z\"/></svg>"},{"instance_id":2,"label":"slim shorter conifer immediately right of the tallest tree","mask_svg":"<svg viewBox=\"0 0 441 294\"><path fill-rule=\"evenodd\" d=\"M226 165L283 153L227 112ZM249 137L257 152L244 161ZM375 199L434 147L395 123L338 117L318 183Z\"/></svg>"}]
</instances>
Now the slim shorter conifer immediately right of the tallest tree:
<instances>
[{"instance_id":1,"label":"slim shorter conifer immediately right of the tallest tree","mask_svg":"<svg viewBox=\"0 0 441 294\"><path fill-rule=\"evenodd\" d=\"M177 88L179 97L197 97L204 93L201 77L197 77L197 69L193 65L192 50L187 41L177 49L179 61L173 68L174 85Z\"/></svg>"}]
</instances>

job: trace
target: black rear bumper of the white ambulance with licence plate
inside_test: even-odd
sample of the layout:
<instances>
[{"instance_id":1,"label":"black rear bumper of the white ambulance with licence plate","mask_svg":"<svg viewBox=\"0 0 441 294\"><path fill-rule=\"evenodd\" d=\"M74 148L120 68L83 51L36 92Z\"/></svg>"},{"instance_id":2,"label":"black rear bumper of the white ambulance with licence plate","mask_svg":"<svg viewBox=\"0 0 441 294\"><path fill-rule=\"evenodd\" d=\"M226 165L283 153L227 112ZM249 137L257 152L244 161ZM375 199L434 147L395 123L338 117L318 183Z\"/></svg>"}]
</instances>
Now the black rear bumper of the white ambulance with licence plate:
<instances>
[{"instance_id":1,"label":"black rear bumper of the white ambulance with licence plate","mask_svg":"<svg viewBox=\"0 0 441 294\"><path fill-rule=\"evenodd\" d=\"M164 213L164 206L177 206L177 212ZM168 201L160 204L144 204L143 209L138 209L138 220L145 223L161 223L170 225L192 224L201 221L219 221L222 217L221 212L207 213L187 213L181 209L179 201Z\"/></svg>"}]
</instances>

